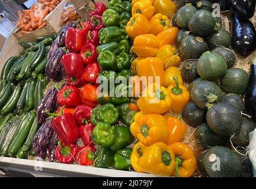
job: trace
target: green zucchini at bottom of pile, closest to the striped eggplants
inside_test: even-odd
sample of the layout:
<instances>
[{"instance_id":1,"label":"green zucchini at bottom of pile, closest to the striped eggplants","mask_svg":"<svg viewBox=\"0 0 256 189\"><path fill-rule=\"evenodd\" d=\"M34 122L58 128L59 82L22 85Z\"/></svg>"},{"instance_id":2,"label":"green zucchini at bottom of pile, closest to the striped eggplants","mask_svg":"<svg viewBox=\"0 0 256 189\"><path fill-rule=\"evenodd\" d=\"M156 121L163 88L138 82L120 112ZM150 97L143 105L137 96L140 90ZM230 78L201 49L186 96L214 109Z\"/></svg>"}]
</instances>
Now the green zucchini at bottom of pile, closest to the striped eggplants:
<instances>
[{"instance_id":1,"label":"green zucchini at bottom of pile, closest to the striped eggplants","mask_svg":"<svg viewBox=\"0 0 256 189\"><path fill-rule=\"evenodd\" d=\"M16 155L17 158L25 158L27 156L28 151L32 146L32 141L36 132L37 132L37 119L35 118L30 128L30 131L27 135L27 138L25 139L24 144L21 146L21 148L17 152L17 155Z\"/></svg>"}]
</instances>

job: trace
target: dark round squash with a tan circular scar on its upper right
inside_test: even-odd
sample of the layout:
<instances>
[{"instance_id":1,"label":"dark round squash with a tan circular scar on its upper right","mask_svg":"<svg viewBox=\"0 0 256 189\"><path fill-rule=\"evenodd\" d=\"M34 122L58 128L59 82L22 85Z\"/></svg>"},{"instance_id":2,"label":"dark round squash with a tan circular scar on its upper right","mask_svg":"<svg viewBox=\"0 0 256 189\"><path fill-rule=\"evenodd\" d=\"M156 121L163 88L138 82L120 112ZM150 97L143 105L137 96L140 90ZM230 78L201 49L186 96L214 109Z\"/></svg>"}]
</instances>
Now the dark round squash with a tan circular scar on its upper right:
<instances>
[{"instance_id":1,"label":"dark round squash with a tan circular scar on its upper right","mask_svg":"<svg viewBox=\"0 0 256 189\"><path fill-rule=\"evenodd\" d=\"M208 50L203 38L187 35L181 41L181 56L185 59L197 59Z\"/></svg>"}]
</instances>

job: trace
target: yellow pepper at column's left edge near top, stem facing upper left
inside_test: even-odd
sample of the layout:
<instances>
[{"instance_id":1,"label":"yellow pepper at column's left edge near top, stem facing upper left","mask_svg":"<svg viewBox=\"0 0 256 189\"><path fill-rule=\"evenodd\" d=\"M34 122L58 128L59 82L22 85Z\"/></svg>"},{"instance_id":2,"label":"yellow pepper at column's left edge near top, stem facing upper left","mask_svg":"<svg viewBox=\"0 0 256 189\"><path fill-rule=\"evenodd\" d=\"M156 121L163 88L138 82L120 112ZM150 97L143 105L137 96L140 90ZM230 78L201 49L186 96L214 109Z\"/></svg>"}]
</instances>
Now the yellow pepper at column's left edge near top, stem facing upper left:
<instances>
[{"instance_id":1,"label":"yellow pepper at column's left edge near top, stem facing upper left","mask_svg":"<svg viewBox=\"0 0 256 189\"><path fill-rule=\"evenodd\" d=\"M148 34L151 28L149 21L142 14L135 14L126 25L126 32L130 38L135 38L141 34Z\"/></svg>"}]
</instances>

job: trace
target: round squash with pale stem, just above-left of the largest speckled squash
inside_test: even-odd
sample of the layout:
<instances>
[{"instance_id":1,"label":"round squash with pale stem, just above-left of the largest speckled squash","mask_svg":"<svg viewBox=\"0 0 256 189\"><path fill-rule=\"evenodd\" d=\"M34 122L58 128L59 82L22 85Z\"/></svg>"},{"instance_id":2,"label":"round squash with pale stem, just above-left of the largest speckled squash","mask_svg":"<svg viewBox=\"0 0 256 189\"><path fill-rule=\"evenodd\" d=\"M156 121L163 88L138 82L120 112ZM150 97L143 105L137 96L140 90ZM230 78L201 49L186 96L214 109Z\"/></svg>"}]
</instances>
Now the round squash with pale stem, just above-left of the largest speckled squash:
<instances>
[{"instance_id":1,"label":"round squash with pale stem, just above-left of the largest speckled squash","mask_svg":"<svg viewBox=\"0 0 256 189\"><path fill-rule=\"evenodd\" d=\"M220 88L215 83L204 80L195 84L190 95L197 107L201 109L207 109L207 103L221 102L222 99Z\"/></svg>"}]
</instances>

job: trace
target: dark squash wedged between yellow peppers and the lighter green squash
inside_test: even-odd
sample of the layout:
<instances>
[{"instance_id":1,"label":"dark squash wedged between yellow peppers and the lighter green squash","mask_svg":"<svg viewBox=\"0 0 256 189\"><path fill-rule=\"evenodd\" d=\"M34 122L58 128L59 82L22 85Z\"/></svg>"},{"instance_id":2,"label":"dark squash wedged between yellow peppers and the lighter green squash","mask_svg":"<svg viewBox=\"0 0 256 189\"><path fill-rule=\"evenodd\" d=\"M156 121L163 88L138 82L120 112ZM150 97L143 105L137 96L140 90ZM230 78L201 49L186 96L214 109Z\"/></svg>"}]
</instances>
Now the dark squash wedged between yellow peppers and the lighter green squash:
<instances>
[{"instance_id":1,"label":"dark squash wedged between yellow peppers and the lighter green squash","mask_svg":"<svg viewBox=\"0 0 256 189\"><path fill-rule=\"evenodd\" d=\"M191 83L199 77L197 73L197 62L198 59L190 59L181 64L181 76L185 82Z\"/></svg>"}]
</instances>

